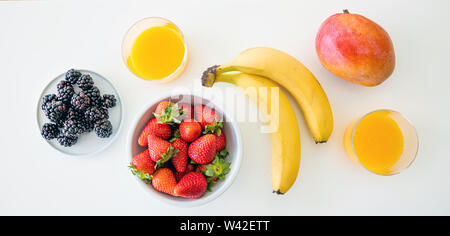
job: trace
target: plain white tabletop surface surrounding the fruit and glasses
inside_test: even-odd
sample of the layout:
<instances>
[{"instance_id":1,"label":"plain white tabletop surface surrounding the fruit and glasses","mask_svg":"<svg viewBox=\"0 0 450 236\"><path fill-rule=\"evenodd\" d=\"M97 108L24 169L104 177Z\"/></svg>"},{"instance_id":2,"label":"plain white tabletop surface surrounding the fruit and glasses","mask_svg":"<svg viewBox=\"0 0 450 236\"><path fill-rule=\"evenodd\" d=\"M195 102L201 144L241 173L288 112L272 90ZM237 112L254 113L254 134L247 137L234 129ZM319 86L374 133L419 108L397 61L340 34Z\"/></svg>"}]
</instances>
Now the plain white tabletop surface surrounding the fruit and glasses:
<instances>
[{"instance_id":1,"label":"plain white tabletop surface surrounding the fruit and glasses","mask_svg":"<svg viewBox=\"0 0 450 236\"><path fill-rule=\"evenodd\" d=\"M383 26L397 55L393 76L376 88L327 72L315 54L320 24L348 8ZM43 1L0 3L1 215L449 215L450 2L434 1ZM121 41L137 20L174 21L191 57L178 80L154 85L124 66ZM144 104L178 86L193 87L208 66L243 49L289 52L317 76L328 94L335 130L315 145L297 109L302 134L299 179L285 196L271 193L270 140L259 123L241 123L245 150L235 183L198 208L156 202L127 169L131 122ZM94 70L122 95L124 128L108 150L70 158L53 150L36 124L41 89L69 68ZM380 177L344 153L345 127L379 108L398 110L417 127L416 162Z\"/></svg>"}]
</instances>

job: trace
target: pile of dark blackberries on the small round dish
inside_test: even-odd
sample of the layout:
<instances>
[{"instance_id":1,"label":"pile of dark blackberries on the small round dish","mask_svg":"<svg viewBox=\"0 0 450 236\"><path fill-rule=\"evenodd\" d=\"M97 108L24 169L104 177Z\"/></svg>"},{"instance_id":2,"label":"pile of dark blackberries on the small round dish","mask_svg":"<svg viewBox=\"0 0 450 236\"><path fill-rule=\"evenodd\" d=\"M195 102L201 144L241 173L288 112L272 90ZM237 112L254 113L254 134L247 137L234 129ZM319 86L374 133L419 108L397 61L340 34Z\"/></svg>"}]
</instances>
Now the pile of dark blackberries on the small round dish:
<instances>
[{"instance_id":1,"label":"pile of dark blackberries on the small round dish","mask_svg":"<svg viewBox=\"0 0 450 236\"><path fill-rule=\"evenodd\" d=\"M113 127L108 120L108 109L116 106L114 95L102 96L92 77L75 69L67 71L56 89L57 94L42 98L41 109L51 121L42 127L42 137L56 139L62 146L71 147L83 133L94 131L100 138L111 136Z\"/></svg>"}]
</instances>

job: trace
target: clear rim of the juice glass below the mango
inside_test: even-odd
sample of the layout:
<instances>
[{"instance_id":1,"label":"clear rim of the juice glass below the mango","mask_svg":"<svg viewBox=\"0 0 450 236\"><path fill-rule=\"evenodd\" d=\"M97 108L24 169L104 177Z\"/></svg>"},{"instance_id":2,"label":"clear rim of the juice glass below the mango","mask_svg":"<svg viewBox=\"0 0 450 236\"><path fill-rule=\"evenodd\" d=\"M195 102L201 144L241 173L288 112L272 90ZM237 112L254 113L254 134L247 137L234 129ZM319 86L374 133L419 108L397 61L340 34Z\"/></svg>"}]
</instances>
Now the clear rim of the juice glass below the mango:
<instances>
[{"instance_id":1,"label":"clear rim of the juice glass below the mango","mask_svg":"<svg viewBox=\"0 0 450 236\"><path fill-rule=\"evenodd\" d=\"M389 112L395 113L395 114L399 115L400 117L402 117L403 119L405 119L405 120L407 121L408 125L409 125L410 127L412 127L412 129L413 129L413 131L414 131L414 136L415 136L415 140L416 140L415 142L416 142L416 145L417 145L416 150L414 150L414 156L413 156L413 158L411 159L411 161L408 163L408 165L405 166L405 167L403 167L403 168L401 168L401 169L399 169L398 171L395 171L395 172L390 173L390 174L380 174L380 173L376 173L376 172L370 170L369 168L367 168L367 167L361 162L361 160L359 159L358 155L356 154L355 146L354 146L354 136L355 136L355 131L356 131L356 128L358 127L358 125L359 125L359 124L361 123L361 121L362 121L364 118L366 118L367 116L369 116L369 115L371 115L371 114L373 114L373 113L376 113L376 112L380 112L380 111L389 111ZM397 122L397 121L396 121L396 122ZM408 118L406 118L402 113L400 113L400 112L398 112L398 111L395 111L395 110L391 110L391 109L377 109L377 110L374 110L374 111L372 111L372 112L369 112L369 113L365 114L364 116L362 116L361 118L359 118L359 119L357 120L357 122L355 123L355 125L353 126L353 128L352 128L352 136L351 136L351 137L352 137L352 140L351 140L351 141L352 141L352 152L353 152L353 155L355 155L356 159L358 160L358 163L359 163L361 166L363 166L364 169L368 170L369 172L371 172L371 173L373 173L373 174L379 175L379 176L394 176L394 175L400 174L400 173L403 172L404 170L408 169L408 168L414 163L414 161L417 159L417 154L419 153L419 144L420 144L420 141L419 141L419 135L417 134L417 129L416 129L416 127L415 127L414 124L411 122L411 120L409 120Z\"/></svg>"}]
</instances>

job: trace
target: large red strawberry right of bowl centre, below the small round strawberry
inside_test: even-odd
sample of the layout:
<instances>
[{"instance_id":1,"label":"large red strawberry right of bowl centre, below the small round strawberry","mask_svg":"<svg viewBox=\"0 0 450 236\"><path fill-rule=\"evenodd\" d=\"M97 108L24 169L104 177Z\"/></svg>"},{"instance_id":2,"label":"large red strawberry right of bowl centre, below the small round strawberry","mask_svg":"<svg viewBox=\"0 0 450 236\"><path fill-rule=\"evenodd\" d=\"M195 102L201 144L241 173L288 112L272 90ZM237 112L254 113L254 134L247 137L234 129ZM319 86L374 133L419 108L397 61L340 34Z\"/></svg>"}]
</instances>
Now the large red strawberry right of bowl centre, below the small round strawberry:
<instances>
[{"instance_id":1,"label":"large red strawberry right of bowl centre, below the small round strawberry","mask_svg":"<svg viewBox=\"0 0 450 236\"><path fill-rule=\"evenodd\" d=\"M189 145L189 157L198 164L208 164L216 154L216 137L206 134Z\"/></svg>"}]
</instances>

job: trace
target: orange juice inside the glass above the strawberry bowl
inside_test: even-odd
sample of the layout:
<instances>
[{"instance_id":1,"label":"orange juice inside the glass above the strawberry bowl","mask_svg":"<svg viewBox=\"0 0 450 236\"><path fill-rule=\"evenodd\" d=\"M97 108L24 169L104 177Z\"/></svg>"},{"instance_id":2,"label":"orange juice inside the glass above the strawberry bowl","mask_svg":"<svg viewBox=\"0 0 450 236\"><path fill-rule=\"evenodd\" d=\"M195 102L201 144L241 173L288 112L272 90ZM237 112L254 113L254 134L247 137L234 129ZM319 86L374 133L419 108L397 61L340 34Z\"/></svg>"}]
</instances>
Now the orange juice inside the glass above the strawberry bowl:
<instances>
[{"instance_id":1,"label":"orange juice inside the glass above the strawberry bowl","mask_svg":"<svg viewBox=\"0 0 450 236\"><path fill-rule=\"evenodd\" d=\"M186 54L184 39L173 24L146 29L135 39L127 58L130 70L141 78L158 80L172 75Z\"/></svg>"}]
</instances>

